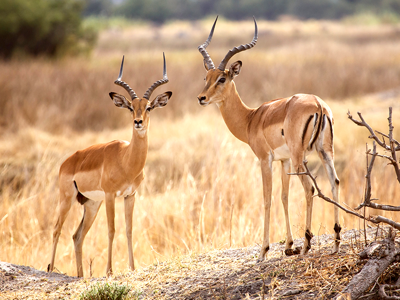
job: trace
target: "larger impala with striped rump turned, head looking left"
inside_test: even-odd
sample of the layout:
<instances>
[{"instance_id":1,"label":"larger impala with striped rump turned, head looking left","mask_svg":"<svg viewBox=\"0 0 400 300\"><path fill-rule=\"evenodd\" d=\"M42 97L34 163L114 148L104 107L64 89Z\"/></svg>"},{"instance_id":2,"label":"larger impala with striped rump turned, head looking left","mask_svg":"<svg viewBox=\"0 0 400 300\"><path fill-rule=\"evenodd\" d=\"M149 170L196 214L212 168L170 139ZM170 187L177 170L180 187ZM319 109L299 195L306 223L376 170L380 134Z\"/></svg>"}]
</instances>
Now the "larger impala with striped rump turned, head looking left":
<instances>
[{"instance_id":1,"label":"larger impala with striped rump turned, head looking left","mask_svg":"<svg viewBox=\"0 0 400 300\"><path fill-rule=\"evenodd\" d=\"M257 23L254 18L254 37L250 43L241 44L227 52L215 68L206 47L214 32L216 17L207 40L198 46L207 70L205 87L197 96L201 106L215 103L229 131L239 140L247 143L258 158L261 166L264 200L264 230L262 248L257 262L266 257L269 250L269 215L272 190L272 161L280 161L282 166L281 200L286 222L285 253L293 254L292 234L288 214L288 192L291 164L298 171L305 171L303 159L314 149L322 162L331 185L333 200L339 201L339 179L333 160L333 116L329 106L318 96L312 94L295 94L287 98L278 98L249 108L242 102L233 82L240 73L240 60L225 66L236 53L252 48L258 36ZM306 175L299 175L306 198L305 240L300 254L310 249L312 196L314 187ZM334 243L332 253L339 251L340 225L339 210L334 206Z\"/></svg>"}]
</instances>

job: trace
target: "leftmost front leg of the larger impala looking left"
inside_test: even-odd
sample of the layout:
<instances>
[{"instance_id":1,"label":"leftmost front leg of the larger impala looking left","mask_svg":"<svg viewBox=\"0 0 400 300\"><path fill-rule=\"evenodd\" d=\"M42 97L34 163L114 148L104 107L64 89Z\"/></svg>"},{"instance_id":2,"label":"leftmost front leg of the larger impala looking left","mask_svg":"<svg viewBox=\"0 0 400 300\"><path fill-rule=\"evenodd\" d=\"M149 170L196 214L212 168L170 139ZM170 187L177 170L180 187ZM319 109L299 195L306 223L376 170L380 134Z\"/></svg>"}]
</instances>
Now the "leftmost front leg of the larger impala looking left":
<instances>
[{"instance_id":1,"label":"leftmost front leg of the larger impala looking left","mask_svg":"<svg viewBox=\"0 0 400 300\"><path fill-rule=\"evenodd\" d=\"M272 193L272 163L268 159L260 160L262 174L262 190L264 197L264 240L261 251L258 254L257 262L264 260L269 250L269 214L271 210Z\"/></svg>"}]
</instances>

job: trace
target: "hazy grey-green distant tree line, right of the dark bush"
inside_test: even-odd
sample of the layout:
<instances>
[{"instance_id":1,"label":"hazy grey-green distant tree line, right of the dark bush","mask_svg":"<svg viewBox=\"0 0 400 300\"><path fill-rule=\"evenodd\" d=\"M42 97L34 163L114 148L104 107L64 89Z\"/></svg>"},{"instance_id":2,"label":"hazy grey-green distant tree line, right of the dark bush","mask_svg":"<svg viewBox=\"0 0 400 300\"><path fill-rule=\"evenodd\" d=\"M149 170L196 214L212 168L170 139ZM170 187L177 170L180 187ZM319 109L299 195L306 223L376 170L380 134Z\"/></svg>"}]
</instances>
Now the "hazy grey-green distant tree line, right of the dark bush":
<instances>
[{"instance_id":1,"label":"hazy grey-green distant tree line, right of the dark bush","mask_svg":"<svg viewBox=\"0 0 400 300\"><path fill-rule=\"evenodd\" d=\"M359 13L400 14L400 0L87 0L108 2L111 13L154 22L167 19L200 19L219 14L228 19L339 19ZM114 3L114 4L112 4Z\"/></svg>"}]
</instances>

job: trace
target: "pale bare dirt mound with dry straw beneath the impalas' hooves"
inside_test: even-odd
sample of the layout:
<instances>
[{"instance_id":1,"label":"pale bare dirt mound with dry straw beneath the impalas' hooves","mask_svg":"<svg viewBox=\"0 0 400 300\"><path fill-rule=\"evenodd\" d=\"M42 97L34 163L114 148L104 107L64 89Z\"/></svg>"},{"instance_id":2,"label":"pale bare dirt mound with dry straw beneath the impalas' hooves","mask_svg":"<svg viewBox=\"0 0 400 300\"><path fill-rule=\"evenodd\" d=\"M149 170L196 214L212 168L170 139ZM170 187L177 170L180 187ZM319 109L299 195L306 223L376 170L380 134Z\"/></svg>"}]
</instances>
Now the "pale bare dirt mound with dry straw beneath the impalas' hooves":
<instances>
[{"instance_id":1,"label":"pale bare dirt mound with dry straw beneath the impalas' hooves","mask_svg":"<svg viewBox=\"0 0 400 300\"><path fill-rule=\"evenodd\" d=\"M370 228L367 240L381 239L385 234L381 228ZM178 255L108 278L78 279L0 262L0 297L69 298L100 281L129 284L138 298L146 299L329 299L363 266L357 255L365 244L363 231L348 230L341 237L339 254L329 254L333 240L324 234L312 238L312 249L305 255L285 256L284 244L274 243L267 259L256 264L258 245L217 249ZM299 246L302 240L294 243ZM387 270L387 276L392 271Z\"/></svg>"}]
</instances>

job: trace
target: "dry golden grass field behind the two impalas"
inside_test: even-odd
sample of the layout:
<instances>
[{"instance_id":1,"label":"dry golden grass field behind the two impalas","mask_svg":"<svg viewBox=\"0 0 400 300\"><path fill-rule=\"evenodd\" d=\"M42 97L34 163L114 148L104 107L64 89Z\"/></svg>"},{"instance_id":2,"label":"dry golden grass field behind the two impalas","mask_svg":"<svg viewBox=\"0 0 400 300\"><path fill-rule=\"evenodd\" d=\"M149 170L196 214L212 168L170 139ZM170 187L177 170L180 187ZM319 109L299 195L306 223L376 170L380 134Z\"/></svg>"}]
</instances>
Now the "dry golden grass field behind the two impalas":
<instances>
[{"instance_id":1,"label":"dry golden grass field behind the two impalas","mask_svg":"<svg viewBox=\"0 0 400 300\"><path fill-rule=\"evenodd\" d=\"M197 46L207 37L212 21L179 21L163 26L110 23L101 30L90 57L16 57L1 62L0 261L46 269L57 217L59 165L77 149L91 144L130 140L129 114L117 109L108 96L109 91L122 92L113 84L120 59L124 54L123 79L141 96L161 78L164 51L170 81L157 88L155 94L171 90L173 95L165 107L151 113L146 177L137 191L133 216L138 269L132 276L145 273L145 285L157 276L154 270L158 266L176 262L192 269L201 264L198 260L206 261L201 257L213 257L215 251L227 253L211 258L218 263L228 264L229 259L241 265L243 261L253 263L263 229L259 163L250 148L231 135L216 106L200 107L196 99L205 76ZM297 92L323 98L334 115L340 199L350 207L357 206L364 190L365 142L370 141L366 129L355 126L346 112L349 109L356 115L358 110L374 129L386 132L388 107L392 106L394 136L399 136L400 24L357 19L259 20L258 28L256 46L230 61L243 61L241 73L235 78L242 100L255 107ZM251 20L218 20L207 50L218 63L229 48L249 42L252 34ZM319 186L330 196L317 156L310 155L308 161L318 175ZM375 161L372 196L381 203L398 205L400 186L386 163ZM285 237L279 163L274 165L274 173L270 240L278 242ZM289 201L293 234L302 237L305 200L295 176L290 182ZM123 277L130 274L123 201L117 200L115 205L113 269L115 277ZM76 274L71 236L81 215L82 208L76 203L57 247L55 267L68 275ZM396 213L387 212L385 216L398 221ZM344 213L340 222L343 230L362 227L361 221ZM312 232L320 235L332 230L332 206L314 198ZM239 247L245 248L236 250ZM243 252L245 255L237 254ZM83 244L85 276L103 276L106 255L106 217L101 207ZM271 251L268 258L274 257ZM262 278L268 275L259 269L257 272ZM84 280L89 284L89 279ZM154 280L151 282L158 282ZM71 284L65 287L70 291L58 290L51 297L76 295L77 289ZM245 297L246 293L240 294ZM212 293L209 296L216 297ZM35 295L26 295L30 297ZM268 297L273 298L273 294Z\"/></svg>"}]
</instances>

